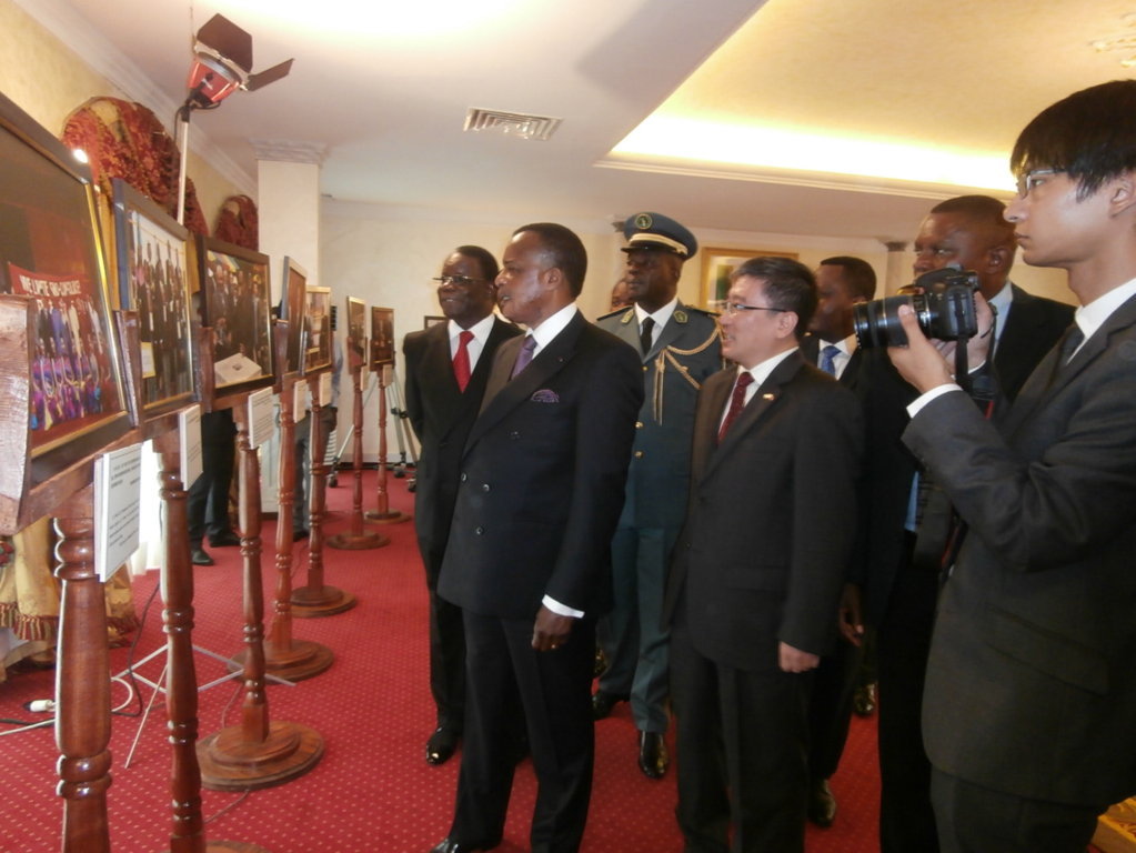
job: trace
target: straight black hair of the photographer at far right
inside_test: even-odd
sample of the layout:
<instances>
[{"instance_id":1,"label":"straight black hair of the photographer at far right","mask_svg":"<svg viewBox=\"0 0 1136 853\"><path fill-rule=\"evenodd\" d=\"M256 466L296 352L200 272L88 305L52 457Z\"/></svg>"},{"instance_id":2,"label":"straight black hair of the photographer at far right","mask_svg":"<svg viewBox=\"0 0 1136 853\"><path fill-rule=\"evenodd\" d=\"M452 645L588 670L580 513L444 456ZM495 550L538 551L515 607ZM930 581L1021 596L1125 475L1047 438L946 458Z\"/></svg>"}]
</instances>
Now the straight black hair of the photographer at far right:
<instances>
[{"instance_id":1,"label":"straight black hair of the photographer at far right","mask_svg":"<svg viewBox=\"0 0 1136 853\"><path fill-rule=\"evenodd\" d=\"M1136 80L1083 89L1042 110L1018 136L1010 169L1063 172L1083 199L1136 170Z\"/></svg>"}]
</instances>

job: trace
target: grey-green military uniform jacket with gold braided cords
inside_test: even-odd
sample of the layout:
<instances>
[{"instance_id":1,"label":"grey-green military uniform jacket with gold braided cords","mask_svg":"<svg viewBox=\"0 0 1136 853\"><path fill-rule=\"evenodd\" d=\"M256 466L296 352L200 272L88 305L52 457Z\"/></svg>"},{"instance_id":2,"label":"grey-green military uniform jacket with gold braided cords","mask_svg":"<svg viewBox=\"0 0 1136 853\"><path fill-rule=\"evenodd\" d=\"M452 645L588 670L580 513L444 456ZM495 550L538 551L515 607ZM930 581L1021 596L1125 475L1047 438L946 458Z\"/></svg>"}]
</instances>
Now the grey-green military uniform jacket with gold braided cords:
<instances>
[{"instance_id":1,"label":"grey-green military uniform jacket with gold braided cords","mask_svg":"<svg viewBox=\"0 0 1136 853\"><path fill-rule=\"evenodd\" d=\"M596 325L642 352L634 308L605 315ZM677 528L686 510L699 388L721 369L718 321L679 302L642 362L645 395L619 525Z\"/></svg>"}]
</instances>

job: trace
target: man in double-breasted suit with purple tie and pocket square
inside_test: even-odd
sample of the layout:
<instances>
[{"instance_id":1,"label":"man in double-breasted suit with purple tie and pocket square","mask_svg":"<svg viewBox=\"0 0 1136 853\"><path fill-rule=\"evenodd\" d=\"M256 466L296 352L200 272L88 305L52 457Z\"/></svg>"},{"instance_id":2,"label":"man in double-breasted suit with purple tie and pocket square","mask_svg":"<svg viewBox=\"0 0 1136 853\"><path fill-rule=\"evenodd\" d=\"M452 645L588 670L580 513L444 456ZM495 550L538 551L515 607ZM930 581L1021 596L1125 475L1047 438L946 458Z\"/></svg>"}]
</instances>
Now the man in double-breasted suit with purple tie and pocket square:
<instances>
[{"instance_id":1,"label":"man in double-breasted suit with purple tie and pocket square","mask_svg":"<svg viewBox=\"0 0 1136 853\"><path fill-rule=\"evenodd\" d=\"M636 352L576 308L586 268L568 228L526 225L496 279L501 311L528 332L498 349L438 578L465 619L466 725L453 823L435 853L501 841L513 684L538 783L532 850L571 853L584 834L595 619L611 604L611 536L643 402Z\"/></svg>"}]
</instances>

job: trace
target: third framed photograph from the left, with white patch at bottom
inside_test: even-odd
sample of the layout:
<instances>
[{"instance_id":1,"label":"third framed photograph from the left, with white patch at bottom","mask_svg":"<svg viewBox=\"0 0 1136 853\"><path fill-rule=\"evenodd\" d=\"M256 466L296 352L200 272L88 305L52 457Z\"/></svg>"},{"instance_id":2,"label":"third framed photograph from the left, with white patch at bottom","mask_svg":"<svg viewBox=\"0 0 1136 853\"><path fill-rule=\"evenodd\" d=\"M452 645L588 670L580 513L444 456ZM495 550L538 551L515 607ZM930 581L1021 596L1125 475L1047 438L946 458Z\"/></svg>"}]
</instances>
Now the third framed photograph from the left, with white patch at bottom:
<instances>
[{"instance_id":1,"label":"third framed photograph from the left, with white patch at bottom","mask_svg":"<svg viewBox=\"0 0 1136 853\"><path fill-rule=\"evenodd\" d=\"M212 329L214 394L275 382L268 256L198 237L202 320Z\"/></svg>"}]
</instances>

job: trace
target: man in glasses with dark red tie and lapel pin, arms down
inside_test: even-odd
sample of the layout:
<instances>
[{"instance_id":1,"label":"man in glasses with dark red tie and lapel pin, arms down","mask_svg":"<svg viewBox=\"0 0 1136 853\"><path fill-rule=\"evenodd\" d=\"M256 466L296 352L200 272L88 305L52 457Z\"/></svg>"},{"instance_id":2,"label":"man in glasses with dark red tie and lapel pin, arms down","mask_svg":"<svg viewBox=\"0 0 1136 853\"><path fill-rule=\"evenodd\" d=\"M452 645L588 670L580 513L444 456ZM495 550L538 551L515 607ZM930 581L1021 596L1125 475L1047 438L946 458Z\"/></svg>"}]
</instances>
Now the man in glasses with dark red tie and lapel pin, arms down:
<instances>
[{"instance_id":1,"label":"man in glasses with dark red tie and lapel pin, arms down","mask_svg":"<svg viewBox=\"0 0 1136 853\"><path fill-rule=\"evenodd\" d=\"M810 671L836 633L862 441L855 396L797 349L816 304L796 261L740 266L720 320L737 367L699 392L665 605L687 853L804 848Z\"/></svg>"}]
</instances>

